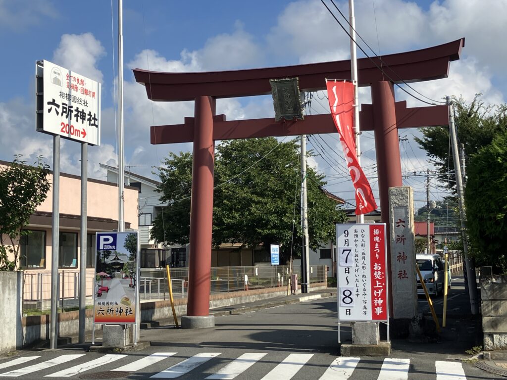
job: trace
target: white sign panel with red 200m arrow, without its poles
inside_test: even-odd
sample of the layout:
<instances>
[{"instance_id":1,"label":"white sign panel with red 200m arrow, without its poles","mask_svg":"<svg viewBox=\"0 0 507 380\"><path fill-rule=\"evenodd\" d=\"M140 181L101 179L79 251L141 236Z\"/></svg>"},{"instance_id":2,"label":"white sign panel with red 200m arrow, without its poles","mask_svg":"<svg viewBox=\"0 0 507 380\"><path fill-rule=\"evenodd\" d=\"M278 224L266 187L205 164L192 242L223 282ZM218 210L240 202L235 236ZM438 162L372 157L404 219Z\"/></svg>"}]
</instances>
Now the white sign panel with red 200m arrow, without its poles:
<instances>
[{"instance_id":1,"label":"white sign panel with red 200m arrow, without its poles","mask_svg":"<svg viewBox=\"0 0 507 380\"><path fill-rule=\"evenodd\" d=\"M37 131L100 145L100 83L46 60L35 78Z\"/></svg>"}]
</instances>

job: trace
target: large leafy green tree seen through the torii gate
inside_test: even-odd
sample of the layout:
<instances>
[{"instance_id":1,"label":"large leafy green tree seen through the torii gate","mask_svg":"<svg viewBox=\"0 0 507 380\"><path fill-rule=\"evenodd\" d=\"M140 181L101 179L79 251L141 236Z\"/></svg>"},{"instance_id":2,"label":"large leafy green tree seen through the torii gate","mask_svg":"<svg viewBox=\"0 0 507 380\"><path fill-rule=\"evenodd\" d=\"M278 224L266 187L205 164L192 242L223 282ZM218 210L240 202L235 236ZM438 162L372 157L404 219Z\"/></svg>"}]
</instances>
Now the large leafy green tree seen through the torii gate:
<instances>
[{"instance_id":1,"label":"large leafy green tree seen through the torii gate","mask_svg":"<svg viewBox=\"0 0 507 380\"><path fill-rule=\"evenodd\" d=\"M154 221L152 237L168 244L187 244L190 238L192 156L170 154L159 168L168 203ZM322 191L323 175L307 170L309 245L317 249L334 238L334 223L345 214ZM243 247L280 244L288 259L301 247L300 157L296 140L275 138L231 140L216 148L213 197L213 245L240 243Z\"/></svg>"}]
</instances>

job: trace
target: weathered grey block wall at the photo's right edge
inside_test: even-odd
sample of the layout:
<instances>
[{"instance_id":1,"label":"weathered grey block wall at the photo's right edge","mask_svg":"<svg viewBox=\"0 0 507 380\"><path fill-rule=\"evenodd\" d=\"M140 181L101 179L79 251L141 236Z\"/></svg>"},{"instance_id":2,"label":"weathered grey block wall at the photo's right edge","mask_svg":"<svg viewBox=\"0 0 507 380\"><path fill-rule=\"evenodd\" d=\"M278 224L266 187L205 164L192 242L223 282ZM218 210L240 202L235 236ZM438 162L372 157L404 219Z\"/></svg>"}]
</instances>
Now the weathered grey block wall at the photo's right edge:
<instances>
[{"instance_id":1,"label":"weathered grey block wall at the photo's right edge","mask_svg":"<svg viewBox=\"0 0 507 380\"><path fill-rule=\"evenodd\" d=\"M507 350L507 276L481 276L485 350Z\"/></svg>"}]
</instances>

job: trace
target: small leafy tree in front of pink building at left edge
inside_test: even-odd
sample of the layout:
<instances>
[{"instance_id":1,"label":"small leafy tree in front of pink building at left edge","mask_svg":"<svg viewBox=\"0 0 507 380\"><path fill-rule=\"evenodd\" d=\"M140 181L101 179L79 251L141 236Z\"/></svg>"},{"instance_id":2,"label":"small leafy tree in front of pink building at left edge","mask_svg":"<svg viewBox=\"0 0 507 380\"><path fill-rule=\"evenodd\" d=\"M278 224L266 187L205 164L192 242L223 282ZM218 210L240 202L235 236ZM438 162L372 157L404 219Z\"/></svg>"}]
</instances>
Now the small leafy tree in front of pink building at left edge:
<instances>
[{"instance_id":1,"label":"small leafy tree in front of pink building at left edge","mask_svg":"<svg viewBox=\"0 0 507 380\"><path fill-rule=\"evenodd\" d=\"M19 240L30 231L23 230L47 197L51 187L49 167L42 157L33 166L16 156L7 167L0 168L0 271L16 268ZM9 260L11 254L13 260Z\"/></svg>"}]
</instances>

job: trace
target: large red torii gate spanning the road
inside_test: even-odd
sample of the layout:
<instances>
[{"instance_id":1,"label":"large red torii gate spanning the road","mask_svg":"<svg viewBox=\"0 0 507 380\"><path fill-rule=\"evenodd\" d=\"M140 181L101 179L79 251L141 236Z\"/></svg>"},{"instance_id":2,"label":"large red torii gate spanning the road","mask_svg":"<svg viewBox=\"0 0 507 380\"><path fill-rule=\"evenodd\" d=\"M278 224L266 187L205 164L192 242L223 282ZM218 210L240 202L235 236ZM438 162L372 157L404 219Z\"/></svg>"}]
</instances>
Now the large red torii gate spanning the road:
<instances>
[{"instance_id":1,"label":"large red torii gate spanning the road","mask_svg":"<svg viewBox=\"0 0 507 380\"><path fill-rule=\"evenodd\" d=\"M460 39L390 54L382 57L382 66L394 83L447 78L450 62L459 59L463 46L464 39ZM359 59L357 67L359 86L371 86L372 104L361 104L359 122L361 130L374 131L382 222L389 231L388 188L402 185L397 128L448 125L448 108L407 108L405 101L394 101L393 82L385 80L378 58ZM292 77L299 78L301 91L324 90L325 78L350 80L350 61L216 72L133 71L151 100L195 100L194 118L186 117L184 124L152 126L150 132L152 144L193 141L187 316L205 319L209 316L214 140L336 132L329 115L309 115L305 120L284 123L274 118L226 121L225 115L215 115L215 99L270 94L270 79ZM390 254L387 258L390 283Z\"/></svg>"}]
</instances>

